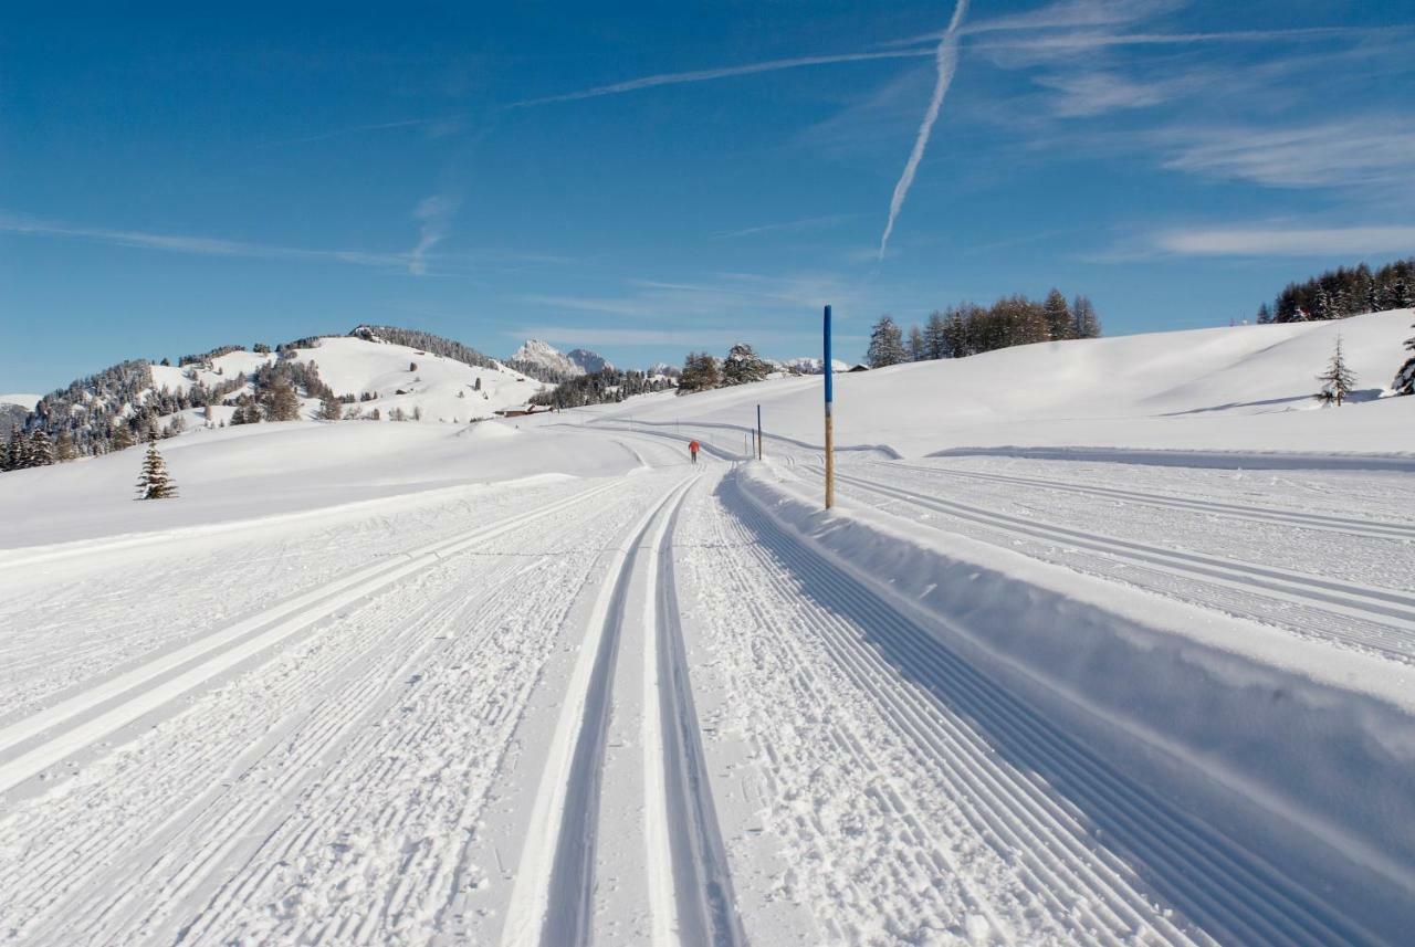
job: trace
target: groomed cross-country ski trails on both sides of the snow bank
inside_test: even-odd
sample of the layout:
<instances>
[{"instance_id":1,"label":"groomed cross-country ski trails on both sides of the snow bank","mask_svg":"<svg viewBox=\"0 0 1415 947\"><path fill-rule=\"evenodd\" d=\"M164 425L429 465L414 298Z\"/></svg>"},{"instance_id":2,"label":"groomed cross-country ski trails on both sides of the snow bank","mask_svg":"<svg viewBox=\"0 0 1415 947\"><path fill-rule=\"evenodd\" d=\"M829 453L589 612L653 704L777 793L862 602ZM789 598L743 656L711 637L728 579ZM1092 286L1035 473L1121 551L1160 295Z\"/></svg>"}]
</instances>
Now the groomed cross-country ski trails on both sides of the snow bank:
<instances>
[{"instance_id":1,"label":"groomed cross-country ski trails on both sides of the snow bank","mask_svg":"<svg viewBox=\"0 0 1415 947\"><path fill-rule=\"evenodd\" d=\"M730 438L689 465L686 431L606 428L640 469L11 558L0 940L1397 943L1409 907L1367 909L1415 875L1399 852L1361 896L1346 868L1324 886L1312 852L1339 828L1303 848L1255 793L1299 840L1264 849L1132 770L955 646L947 612L791 527ZM784 452L770 469L815 489L818 452ZM841 466L848 506L1415 659L1412 589L945 485L1381 550L1415 524L866 454Z\"/></svg>"}]
</instances>

